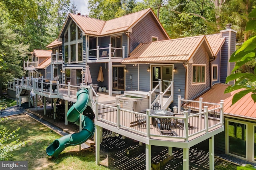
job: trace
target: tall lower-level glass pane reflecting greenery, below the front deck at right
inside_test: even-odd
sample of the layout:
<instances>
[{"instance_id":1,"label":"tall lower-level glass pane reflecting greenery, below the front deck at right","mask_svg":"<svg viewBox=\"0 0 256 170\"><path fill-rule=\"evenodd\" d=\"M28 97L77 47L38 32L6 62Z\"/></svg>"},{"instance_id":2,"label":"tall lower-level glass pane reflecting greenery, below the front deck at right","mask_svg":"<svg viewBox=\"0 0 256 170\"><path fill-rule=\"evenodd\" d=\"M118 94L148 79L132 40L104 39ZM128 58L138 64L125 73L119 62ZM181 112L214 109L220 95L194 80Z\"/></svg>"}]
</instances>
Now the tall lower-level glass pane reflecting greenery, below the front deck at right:
<instances>
[{"instance_id":1,"label":"tall lower-level glass pane reflecting greenery, below the front deck at right","mask_svg":"<svg viewBox=\"0 0 256 170\"><path fill-rule=\"evenodd\" d=\"M228 153L246 158L246 124L228 121Z\"/></svg>"}]
</instances>

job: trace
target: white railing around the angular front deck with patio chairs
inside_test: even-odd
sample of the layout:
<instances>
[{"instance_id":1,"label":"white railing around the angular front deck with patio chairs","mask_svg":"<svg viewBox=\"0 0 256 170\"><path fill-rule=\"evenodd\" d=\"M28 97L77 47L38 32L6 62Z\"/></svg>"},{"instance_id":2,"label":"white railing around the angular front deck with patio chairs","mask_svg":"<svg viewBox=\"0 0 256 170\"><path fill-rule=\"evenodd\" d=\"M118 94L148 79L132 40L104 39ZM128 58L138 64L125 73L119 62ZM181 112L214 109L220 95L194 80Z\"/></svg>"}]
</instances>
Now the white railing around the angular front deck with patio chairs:
<instances>
[{"instance_id":1,"label":"white railing around the angular front deck with patio chairs","mask_svg":"<svg viewBox=\"0 0 256 170\"><path fill-rule=\"evenodd\" d=\"M180 99L180 101L184 101ZM217 126L223 127L223 101L220 104L212 104L201 102L202 111L189 114L188 111L183 111L183 115L160 116L150 115L150 109L145 113L137 113L117 107L99 104L96 100L96 121L105 122L107 125L114 126L118 129L124 129L144 135L145 137L164 137L172 139L184 139L189 141L190 137L198 134L209 133ZM198 103L198 101L186 100L186 102ZM208 106L206 106L208 105ZM181 108L179 108L181 110ZM214 112L218 113L219 119L213 119L209 115ZM169 119L169 133L162 133L159 129L160 120ZM167 130L167 129L166 129Z\"/></svg>"}]
</instances>

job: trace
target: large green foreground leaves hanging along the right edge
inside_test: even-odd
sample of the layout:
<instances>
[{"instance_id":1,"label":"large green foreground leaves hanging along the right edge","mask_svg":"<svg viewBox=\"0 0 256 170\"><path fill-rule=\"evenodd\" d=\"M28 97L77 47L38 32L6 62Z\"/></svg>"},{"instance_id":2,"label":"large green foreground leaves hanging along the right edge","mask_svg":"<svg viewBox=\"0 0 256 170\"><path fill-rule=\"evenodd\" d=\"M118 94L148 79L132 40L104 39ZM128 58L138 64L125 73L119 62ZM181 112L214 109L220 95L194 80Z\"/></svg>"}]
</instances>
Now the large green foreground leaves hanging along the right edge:
<instances>
[{"instance_id":1,"label":"large green foreground leaves hanging along the right edge","mask_svg":"<svg viewBox=\"0 0 256 170\"><path fill-rule=\"evenodd\" d=\"M248 15L249 18L251 18L246 23L246 31L249 30L256 30L256 8L252 10L252 12ZM247 41L243 43L240 49L236 50L230 57L229 62L236 62L236 65L232 72L235 72L243 66L244 64L255 60L256 58L256 35L252 35L249 37ZM255 64L256 65L256 64ZM226 83L229 81L236 80L235 84L232 86L229 86L226 88L225 93L232 92L234 90L238 89L244 89L241 92L238 92L234 94L232 98L232 104L236 103L238 100L240 100L242 97L244 97L246 94L252 92L251 97L256 102L256 68L254 66L254 72L253 73L241 73L241 72L235 72L230 74L226 78ZM244 80L246 80L246 84L243 84Z\"/></svg>"}]
</instances>

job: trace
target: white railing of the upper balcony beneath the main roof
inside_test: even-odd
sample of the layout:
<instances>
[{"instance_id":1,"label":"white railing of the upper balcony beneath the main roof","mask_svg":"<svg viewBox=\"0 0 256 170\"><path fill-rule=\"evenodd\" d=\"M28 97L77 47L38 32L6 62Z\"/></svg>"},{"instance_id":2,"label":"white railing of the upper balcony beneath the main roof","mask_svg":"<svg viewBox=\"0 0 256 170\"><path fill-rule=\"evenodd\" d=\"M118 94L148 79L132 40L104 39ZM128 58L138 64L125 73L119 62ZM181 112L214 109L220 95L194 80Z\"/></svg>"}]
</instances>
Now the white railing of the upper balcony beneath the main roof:
<instances>
[{"instance_id":1,"label":"white railing of the upper balcony beneath the main roof","mask_svg":"<svg viewBox=\"0 0 256 170\"><path fill-rule=\"evenodd\" d=\"M112 47L111 44L108 45L108 47L100 48L97 46L96 49L89 49L87 48L86 55L88 54L89 60L99 60L99 59L124 59L125 53L124 53L125 47L122 48L116 48Z\"/></svg>"}]
</instances>

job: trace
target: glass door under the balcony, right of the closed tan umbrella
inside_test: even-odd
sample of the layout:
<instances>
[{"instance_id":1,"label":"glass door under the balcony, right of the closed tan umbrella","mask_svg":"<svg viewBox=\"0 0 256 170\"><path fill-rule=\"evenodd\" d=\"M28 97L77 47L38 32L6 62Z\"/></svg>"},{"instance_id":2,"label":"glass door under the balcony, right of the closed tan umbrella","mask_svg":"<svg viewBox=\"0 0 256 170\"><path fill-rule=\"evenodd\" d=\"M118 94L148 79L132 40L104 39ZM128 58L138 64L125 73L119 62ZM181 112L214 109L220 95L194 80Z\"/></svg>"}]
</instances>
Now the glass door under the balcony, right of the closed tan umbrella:
<instances>
[{"instance_id":1,"label":"glass door under the balcony, right of the closed tan umbrella","mask_svg":"<svg viewBox=\"0 0 256 170\"><path fill-rule=\"evenodd\" d=\"M124 66L113 67L113 89L124 90Z\"/></svg>"}]
</instances>

